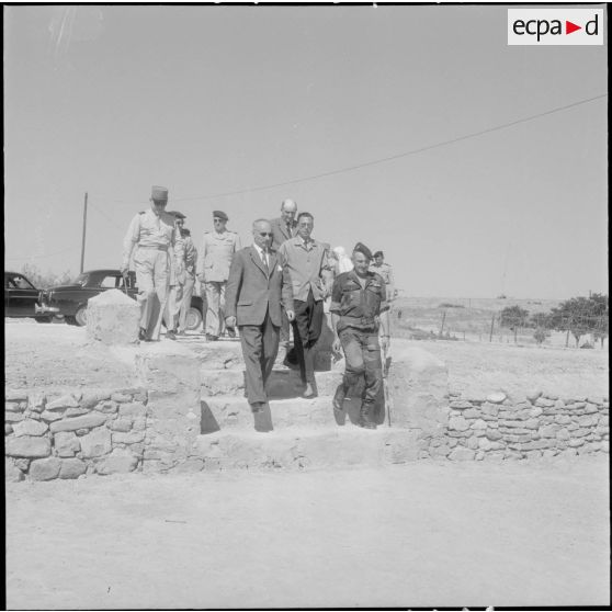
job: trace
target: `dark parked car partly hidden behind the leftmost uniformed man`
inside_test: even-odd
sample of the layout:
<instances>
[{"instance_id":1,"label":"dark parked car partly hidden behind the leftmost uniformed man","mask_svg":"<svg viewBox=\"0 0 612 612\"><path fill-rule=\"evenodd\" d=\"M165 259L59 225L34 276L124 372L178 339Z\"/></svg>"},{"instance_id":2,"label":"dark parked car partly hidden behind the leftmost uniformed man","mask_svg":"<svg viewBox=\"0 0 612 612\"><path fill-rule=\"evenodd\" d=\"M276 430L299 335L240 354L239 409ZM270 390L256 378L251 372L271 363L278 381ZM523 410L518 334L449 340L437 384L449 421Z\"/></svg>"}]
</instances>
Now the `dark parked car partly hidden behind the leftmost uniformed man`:
<instances>
[{"instance_id":1,"label":"dark parked car partly hidden behind the leftmost uniformed man","mask_svg":"<svg viewBox=\"0 0 612 612\"><path fill-rule=\"evenodd\" d=\"M125 282L127 281L127 282ZM129 272L127 279L120 270L90 270L80 274L71 285L59 285L41 292L36 310L64 317L69 325L87 325L87 302L103 291L117 288L136 299L138 287L136 274ZM202 325L204 304L199 295L191 298L186 328L197 329Z\"/></svg>"}]
</instances>

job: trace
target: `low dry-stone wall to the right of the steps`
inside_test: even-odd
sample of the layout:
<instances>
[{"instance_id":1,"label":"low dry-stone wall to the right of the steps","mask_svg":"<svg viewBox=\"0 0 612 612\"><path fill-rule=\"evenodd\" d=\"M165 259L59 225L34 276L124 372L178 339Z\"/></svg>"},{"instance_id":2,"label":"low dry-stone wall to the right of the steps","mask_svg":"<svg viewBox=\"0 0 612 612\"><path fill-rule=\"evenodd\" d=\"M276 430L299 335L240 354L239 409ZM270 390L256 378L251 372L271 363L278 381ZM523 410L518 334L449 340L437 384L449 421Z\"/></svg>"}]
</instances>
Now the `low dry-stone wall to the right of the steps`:
<instances>
[{"instance_id":1,"label":"low dry-stone wall to the right of the steps","mask_svg":"<svg viewBox=\"0 0 612 612\"><path fill-rule=\"evenodd\" d=\"M454 461L522 460L609 452L610 403L603 397L559 398L502 392L483 398L450 396L449 426L421 457Z\"/></svg>"}]
</instances>

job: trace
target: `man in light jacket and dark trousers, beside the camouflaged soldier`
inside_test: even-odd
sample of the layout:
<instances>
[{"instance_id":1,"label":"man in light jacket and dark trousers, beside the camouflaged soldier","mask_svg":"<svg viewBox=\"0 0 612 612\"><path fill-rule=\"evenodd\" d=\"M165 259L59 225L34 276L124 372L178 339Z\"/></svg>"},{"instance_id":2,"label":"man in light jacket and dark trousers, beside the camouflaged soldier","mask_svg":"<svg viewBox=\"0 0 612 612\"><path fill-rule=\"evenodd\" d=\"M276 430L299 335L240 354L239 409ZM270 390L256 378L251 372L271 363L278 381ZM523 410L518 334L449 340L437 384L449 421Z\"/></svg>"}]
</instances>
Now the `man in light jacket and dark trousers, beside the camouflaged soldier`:
<instances>
[{"instance_id":1,"label":"man in light jacket and dark trousers, beside the camouflaged soldier","mask_svg":"<svg viewBox=\"0 0 612 612\"><path fill-rule=\"evenodd\" d=\"M315 219L310 213L299 213L297 235L281 245L281 264L287 268L293 287L295 320L293 338L299 363L303 397L315 397L315 344L321 335L324 299L329 294L332 265L329 247L310 237Z\"/></svg>"}]
</instances>

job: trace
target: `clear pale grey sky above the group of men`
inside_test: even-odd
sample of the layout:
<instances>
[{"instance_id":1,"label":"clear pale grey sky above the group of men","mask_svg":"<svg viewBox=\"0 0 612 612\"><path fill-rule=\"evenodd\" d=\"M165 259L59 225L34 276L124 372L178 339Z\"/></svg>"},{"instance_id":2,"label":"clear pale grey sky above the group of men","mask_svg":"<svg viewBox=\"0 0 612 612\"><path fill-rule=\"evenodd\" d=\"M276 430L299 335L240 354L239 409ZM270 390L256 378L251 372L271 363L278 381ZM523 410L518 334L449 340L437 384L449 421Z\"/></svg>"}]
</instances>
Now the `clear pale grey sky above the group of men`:
<instances>
[{"instance_id":1,"label":"clear pale grey sky above the group of men","mask_svg":"<svg viewBox=\"0 0 612 612\"><path fill-rule=\"evenodd\" d=\"M77 275L86 192L118 268L158 184L196 246L291 197L405 295L608 293L607 44L508 46L507 8L4 7L4 268Z\"/></svg>"}]
</instances>

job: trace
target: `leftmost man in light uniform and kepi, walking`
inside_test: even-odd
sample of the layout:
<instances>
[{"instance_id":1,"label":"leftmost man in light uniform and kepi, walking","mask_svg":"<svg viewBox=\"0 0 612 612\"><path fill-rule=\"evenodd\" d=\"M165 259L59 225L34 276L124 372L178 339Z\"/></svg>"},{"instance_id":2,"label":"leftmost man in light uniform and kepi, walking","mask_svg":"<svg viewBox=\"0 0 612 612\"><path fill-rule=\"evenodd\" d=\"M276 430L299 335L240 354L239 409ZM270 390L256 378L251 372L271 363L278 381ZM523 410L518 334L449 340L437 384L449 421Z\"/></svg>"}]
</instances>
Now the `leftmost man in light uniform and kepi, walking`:
<instances>
[{"instance_id":1,"label":"leftmost man in light uniform and kepi, walking","mask_svg":"<svg viewBox=\"0 0 612 612\"><path fill-rule=\"evenodd\" d=\"M134 248L134 268L140 305L140 340L159 340L170 275L174 274L174 217L166 212L168 189L154 185L151 207L131 222L123 241L121 272L125 276Z\"/></svg>"}]
</instances>

